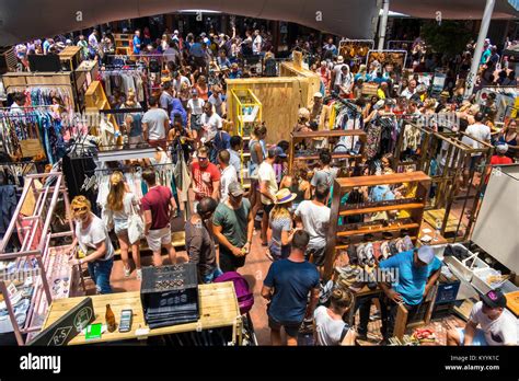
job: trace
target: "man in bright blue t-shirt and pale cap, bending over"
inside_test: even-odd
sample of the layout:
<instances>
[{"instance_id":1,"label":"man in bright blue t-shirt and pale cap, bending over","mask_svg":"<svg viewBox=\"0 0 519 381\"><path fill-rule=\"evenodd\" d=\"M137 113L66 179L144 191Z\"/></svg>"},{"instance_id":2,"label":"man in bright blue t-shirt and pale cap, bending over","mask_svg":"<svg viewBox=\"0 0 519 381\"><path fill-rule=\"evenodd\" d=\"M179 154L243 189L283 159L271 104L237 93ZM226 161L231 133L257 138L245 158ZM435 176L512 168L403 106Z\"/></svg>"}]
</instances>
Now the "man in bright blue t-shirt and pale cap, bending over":
<instances>
[{"instance_id":1,"label":"man in bright blue t-shirt and pale cap, bending over","mask_svg":"<svg viewBox=\"0 0 519 381\"><path fill-rule=\"evenodd\" d=\"M408 311L408 319L418 311L420 303L429 293L441 273L441 262L435 256L431 246L420 246L408 252L399 253L379 264L382 270L395 270L393 285L379 282L390 300L387 331L382 334L384 339L393 335L399 304Z\"/></svg>"}]
</instances>

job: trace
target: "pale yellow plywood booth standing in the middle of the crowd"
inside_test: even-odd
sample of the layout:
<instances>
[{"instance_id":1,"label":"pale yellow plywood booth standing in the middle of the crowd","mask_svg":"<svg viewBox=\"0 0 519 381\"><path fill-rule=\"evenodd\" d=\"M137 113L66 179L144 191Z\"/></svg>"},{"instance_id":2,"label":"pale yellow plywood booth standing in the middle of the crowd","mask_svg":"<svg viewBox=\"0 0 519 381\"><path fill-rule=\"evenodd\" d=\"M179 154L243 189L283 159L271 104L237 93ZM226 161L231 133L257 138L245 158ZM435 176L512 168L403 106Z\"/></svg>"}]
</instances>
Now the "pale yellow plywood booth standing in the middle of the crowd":
<instances>
[{"instance_id":1,"label":"pale yellow plywood booth standing in the middle of the crowd","mask_svg":"<svg viewBox=\"0 0 519 381\"><path fill-rule=\"evenodd\" d=\"M280 72L287 77L228 79L228 108L233 109L232 91L251 90L263 105L263 122L268 132L267 142L289 140L297 124L298 111L308 107L313 94L320 90L320 78L312 71L297 68L293 62L282 62ZM231 115L231 122L238 120Z\"/></svg>"}]
</instances>

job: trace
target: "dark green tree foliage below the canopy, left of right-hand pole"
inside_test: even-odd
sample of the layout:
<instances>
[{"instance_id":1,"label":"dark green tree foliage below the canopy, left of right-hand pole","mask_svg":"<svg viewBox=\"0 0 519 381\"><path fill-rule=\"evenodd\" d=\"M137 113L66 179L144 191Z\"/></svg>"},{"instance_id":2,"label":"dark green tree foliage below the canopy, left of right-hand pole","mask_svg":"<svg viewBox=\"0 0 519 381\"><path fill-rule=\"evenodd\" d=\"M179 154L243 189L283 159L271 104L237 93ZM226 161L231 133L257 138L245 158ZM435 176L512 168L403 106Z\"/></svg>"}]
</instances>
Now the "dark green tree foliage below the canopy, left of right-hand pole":
<instances>
[{"instance_id":1,"label":"dark green tree foliage below the canopy, left of right-hand pole","mask_svg":"<svg viewBox=\"0 0 519 381\"><path fill-rule=\"evenodd\" d=\"M426 22L420 34L434 53L449 57L463 51L472 37L465 22L451 20L443 20L440 25L435 21Z\"/></svg>"}]
</instances>

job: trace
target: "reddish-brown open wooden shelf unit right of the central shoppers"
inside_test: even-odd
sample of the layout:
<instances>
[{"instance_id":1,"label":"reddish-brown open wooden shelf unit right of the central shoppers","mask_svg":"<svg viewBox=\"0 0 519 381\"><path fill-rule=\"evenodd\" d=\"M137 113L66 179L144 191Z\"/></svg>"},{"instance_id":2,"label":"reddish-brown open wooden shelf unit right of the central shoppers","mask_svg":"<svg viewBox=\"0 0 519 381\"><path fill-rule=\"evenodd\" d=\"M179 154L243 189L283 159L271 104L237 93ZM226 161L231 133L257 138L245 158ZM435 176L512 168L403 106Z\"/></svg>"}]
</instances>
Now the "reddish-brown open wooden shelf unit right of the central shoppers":
<instances>
[{"instance_id":1,"label":"reddish-brown open wooden shelf unit right of the central shoppers","mask_svg":"<svg viewBox=\"0 0 519 381\"><path fill-rule=\"evenodd\" d=\"M392 185L408 183L416 185L416 190L411 198L395 199L392 201L379 201L364 204L342 205L343 197L353 189L361 187L373 187L377 185ZM429 192L430 177L424 172L396 173L376 176L360 176L349 178L336 178L332 199L332 213L330 216L330 229L326 238L326 251L324 262L324 277L330 279L333 274L333 264L336 254L346 250L349 244L362 242L365 234L381 235L384 232L405 231L416 244L422 226L425 205ZM381 212L406 211L408 217L369 220L364 222L347 223L349 216L373 216ZM343 221L344 220L344 221Z\"/></svg>"}]
</instances>

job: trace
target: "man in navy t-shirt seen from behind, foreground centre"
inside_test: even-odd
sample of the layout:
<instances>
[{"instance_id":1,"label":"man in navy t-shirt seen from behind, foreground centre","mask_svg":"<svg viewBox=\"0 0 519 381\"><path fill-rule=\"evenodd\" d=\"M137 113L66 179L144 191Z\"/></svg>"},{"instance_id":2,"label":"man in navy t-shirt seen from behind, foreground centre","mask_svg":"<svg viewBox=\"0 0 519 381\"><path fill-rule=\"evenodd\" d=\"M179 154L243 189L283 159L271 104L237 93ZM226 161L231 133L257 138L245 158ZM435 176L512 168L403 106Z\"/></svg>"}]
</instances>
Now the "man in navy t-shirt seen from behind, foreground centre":
<instances>
[{"instance_id":1,"label":"man in navy t-shirt seen from behind, foreground centre","mask_svg":"<svg viewBox=\"0 0 519 381\"><path fill-rule=\"evenodd\" d=\"M274 262L263 281L262 297L269 302L267 314L272 345L285 344L282 327L287 334L286 344L297 346L303 320L313 318L319 301L319 272L304 259L309 241L305 231L297 231L289 257Z\"/></svg>"}]
</instances>

